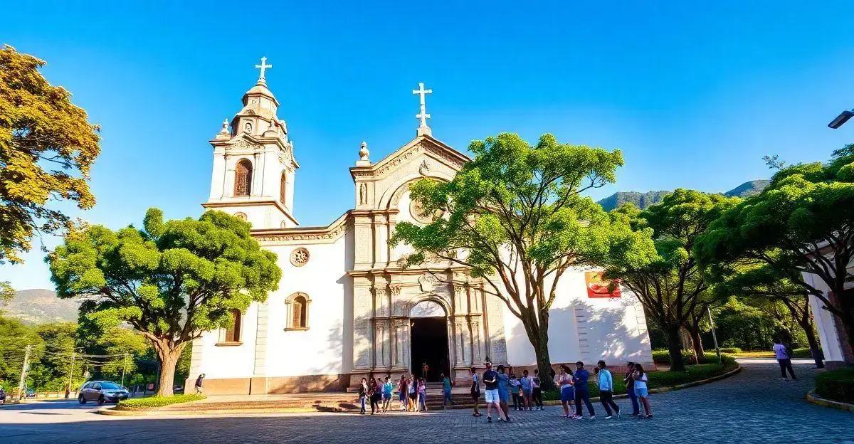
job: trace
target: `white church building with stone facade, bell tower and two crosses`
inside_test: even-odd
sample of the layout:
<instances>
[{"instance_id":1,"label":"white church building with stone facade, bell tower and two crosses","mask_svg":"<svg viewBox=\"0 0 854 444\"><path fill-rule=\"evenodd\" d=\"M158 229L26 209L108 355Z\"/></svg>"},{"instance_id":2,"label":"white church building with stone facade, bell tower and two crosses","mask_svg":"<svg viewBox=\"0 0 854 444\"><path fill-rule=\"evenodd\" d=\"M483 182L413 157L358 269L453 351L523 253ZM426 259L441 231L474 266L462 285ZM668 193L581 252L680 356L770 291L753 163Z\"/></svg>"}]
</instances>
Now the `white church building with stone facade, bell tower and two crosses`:
<instances>
[{"instance_id":1,"label":"white church building with stone facade, bell tower and two crosses","mask_svg":"<svg viewBox=\"0 0 854 444\"><path fill-rule=\"evenodd\" d=\"M256 67L260 78L243 95L243 108L210 141L213 172L202 206L248 220L261 247L278 254L283 276L266 301L235 313L230 328L193 342L188 383L204 373L208 394L279 394L344 390L371 374L420 374L424 363L430 379L441 371L459 382L487 359L533 367L522 324L482 282L448 263L403 268L411 250L389 246L395 224L424 223L409 185L451 180L469 161L427 126L424 95L432 91L423 84L412 91L421 99L415 138L378 161L362 143L349 168L353 189L342 190L352 193L353 207L330 225L300 226L298 152L266 85L271 66L261 59ZM584 270L564 275L551 308L553 364L652 363L640 303L625 292L602 297L591 277Z\"/></svg>"}]
</instances>

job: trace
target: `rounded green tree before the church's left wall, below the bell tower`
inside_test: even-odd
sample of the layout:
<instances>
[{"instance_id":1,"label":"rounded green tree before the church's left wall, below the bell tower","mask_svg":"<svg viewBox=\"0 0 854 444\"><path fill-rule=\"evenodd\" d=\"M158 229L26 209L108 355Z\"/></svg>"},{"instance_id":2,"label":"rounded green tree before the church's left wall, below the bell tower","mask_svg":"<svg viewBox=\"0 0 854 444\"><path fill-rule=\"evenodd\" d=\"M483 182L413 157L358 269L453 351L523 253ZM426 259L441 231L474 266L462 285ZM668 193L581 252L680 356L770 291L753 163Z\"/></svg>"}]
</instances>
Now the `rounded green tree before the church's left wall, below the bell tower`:
<instances>
[{"instance_id":1,"label":"rounded green tree before the church's left wall, below the bell tower","mask_svg":"<svg viewBox=\"0 0 854 444\"><path fill-rule=\"evenodd\" d=\"M102 328L126 322L151 342L161 363L158 394L171 395L184 347L233 322L231 310L264 301L282 272L249 224L226 213L164 222L151 208L143 226L74 231L46 260L57 296L85 296L81 313Z\"/></svg>"}]
</instances>

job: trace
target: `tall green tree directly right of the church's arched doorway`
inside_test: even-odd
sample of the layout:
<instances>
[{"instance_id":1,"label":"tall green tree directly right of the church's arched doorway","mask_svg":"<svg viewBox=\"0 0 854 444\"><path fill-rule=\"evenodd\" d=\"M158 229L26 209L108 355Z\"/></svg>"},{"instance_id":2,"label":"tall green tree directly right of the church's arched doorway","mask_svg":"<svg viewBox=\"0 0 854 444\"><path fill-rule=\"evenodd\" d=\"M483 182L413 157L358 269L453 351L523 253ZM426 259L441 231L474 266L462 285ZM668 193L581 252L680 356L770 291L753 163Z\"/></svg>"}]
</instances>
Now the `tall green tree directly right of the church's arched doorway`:
<instances>
[{"instance_id":1,"label":"tall green tree directly right of the church's arched doorway","mask_svg":"<svg viewBox=\"0 0 854 444\"><path fill-rule=\"evenodd\" d=\"M643 242L582 196L613 182L623 155L558 143L551 134L531 146L516 134L501 133L474 141L469 149L474 160L452 181L412 185L422 215L443 216L424 226L398 224L391 242L412 246L407 266L444 260L482 278L484 291L521 320L537 366L547 375L549 308L564 272L599 264L612 249Z\"/></svg>"}]
</instances>

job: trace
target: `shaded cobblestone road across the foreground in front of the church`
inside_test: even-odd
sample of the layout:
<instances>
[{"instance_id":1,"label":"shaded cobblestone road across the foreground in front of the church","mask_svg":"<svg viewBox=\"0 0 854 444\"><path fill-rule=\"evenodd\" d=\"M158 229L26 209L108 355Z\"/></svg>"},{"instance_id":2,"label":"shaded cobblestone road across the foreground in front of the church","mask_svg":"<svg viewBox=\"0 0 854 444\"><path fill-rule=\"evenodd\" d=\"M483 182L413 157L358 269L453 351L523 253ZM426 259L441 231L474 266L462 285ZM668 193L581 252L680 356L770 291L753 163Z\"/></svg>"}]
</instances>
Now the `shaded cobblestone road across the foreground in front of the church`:
<instances>
[{"instance_id":1,"label":"shaded cobblestone road across the foreground in front of the church","mask_svg":"<svg viewBox=\"0 0 854 444\"><path fill-rule=\"evenodd\" d=\"M93 404L43 401L0 406L0 443L73 442L816 442L854 444L854 413L804 400L814 370L800 360L798 381L781 381L774 361L740 361L744 371L716 383L652 395L655 418L559 418L559 407L512 412L512 424L487 424L468 411L110 417ZM626 400L618 401L623 408ZM627 411L628 412L628 411Z\"/></svg>"}]
</instances>

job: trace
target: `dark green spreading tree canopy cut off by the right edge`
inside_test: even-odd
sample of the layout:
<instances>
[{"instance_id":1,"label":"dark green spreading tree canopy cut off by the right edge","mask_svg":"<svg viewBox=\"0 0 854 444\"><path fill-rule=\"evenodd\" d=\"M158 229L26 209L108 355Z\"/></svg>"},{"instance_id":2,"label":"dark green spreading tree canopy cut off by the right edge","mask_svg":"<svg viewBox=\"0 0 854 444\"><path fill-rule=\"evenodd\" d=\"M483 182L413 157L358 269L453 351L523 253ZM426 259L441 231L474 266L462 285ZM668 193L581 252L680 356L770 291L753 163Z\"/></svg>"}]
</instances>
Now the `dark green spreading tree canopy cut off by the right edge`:
<instances>
[{"instance_id":1,"label":"dark green spreading tree canopy cut off by the right edge","mask_svg":"<svg viewBox=\"0 0 854 444\"><path fill-rule=\"evenodd\" d=\"M854 144L834 151L827 164L784 166L771 184L723 213L697 244L698 260L768 266L776 276L822 301L839 318L854 347L854 295L848 266L854 260ZM836 295L828 298L822 288Z\"/></svg>"}]
</instances>

